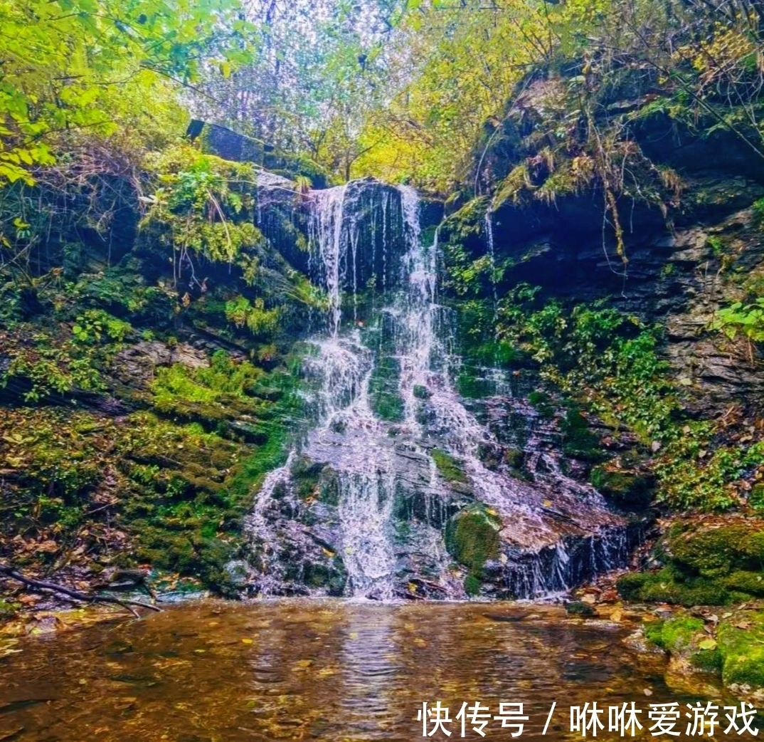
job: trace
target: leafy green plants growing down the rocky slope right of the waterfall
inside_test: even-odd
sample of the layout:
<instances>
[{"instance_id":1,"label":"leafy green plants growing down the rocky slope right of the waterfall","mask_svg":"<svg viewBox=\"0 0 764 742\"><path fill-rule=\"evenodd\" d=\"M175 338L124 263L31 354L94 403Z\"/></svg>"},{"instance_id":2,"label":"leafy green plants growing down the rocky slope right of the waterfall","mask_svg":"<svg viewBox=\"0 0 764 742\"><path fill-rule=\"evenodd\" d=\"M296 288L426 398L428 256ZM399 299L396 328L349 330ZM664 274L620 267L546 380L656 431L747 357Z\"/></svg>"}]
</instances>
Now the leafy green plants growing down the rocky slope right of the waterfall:
<instances>
[{"instance_id":1,"label":"leafy green plants growing down the rocky slope right of the waterfall","mask_svg":"<svg viewBox=\"0 0 764 742\"><path fill-rule=\"evenodd\" d=\"M473 285L471 291L480 296L485 289ZM660 356L659 328L645 327L603 302L568 308L542 301L539 288L524 284L500 296L495 315L479 298L456 308L468 362L510 367L533 362L542 379L575 401L560 421L568 456L603 459L588 414L615 428L626 425L656 453L651 464L656 500L678 509L735 506L741 478L764 464L760 444L720 445L714 425L683 419L680 392ZM482 338L494 331L497 342L486 343ZM503 359L495 350L500 343L513 351ZM469 365L461 369L459 389L465 395L484 393ZM531 401L543 405L535 396ZM622 503L643 505L652 490L647 472L626 465L599 467L593 477L595 487Z\"/></svg>"}]
</instances>

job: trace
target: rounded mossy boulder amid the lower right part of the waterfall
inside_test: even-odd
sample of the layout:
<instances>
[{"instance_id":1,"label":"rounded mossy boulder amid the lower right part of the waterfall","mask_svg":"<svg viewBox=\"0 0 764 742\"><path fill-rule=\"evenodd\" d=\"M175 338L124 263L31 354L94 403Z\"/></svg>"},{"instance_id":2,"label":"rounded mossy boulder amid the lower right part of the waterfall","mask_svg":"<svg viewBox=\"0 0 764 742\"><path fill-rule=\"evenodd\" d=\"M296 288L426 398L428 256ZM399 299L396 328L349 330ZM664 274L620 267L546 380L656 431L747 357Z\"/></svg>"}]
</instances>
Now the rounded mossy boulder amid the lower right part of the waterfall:
<instances>
[{"instance_id":1,"label":"rounded mossy boulder amid the lower right part of the waterfall","mask_svg":"<svg viewBox=\"0 0 764 742\"><path fill-rule=\"evenodd\" d=\"M501 519L481 503L461 509L445 526L445 548L475 578L487 561L499 558Z\"/></svg>"}]
</instances>

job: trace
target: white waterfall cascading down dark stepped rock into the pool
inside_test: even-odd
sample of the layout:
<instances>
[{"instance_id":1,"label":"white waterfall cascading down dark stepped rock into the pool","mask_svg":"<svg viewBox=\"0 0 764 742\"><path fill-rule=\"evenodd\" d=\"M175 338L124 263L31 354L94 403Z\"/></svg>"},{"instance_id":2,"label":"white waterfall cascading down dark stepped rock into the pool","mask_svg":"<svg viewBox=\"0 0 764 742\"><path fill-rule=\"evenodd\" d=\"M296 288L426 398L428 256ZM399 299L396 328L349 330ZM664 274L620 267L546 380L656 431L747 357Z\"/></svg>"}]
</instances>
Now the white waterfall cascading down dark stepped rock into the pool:
<instances>
[{"instance_id":1,"label":"white waterfall cascading down dark stepped rock into the pool","mask_svg":"<svg viewBox=\"0 0 764 742\"><path fill-rule=\"evenodd\" d=\"M563 591L622 564L633 545L626 521L540 446L533 485L486 464L502 444L455 391L438 233L422 239L419 211L410 187L312 194L309 269L328 305L304 362L316 425L268 475L249 519L261 594L463 597L446 537L475 508L500 524L497 553L470 572L496 595ZM492 233L490 247L493 260ZM460 463L458 482L437 452Z\"/></svg>"}]
</instances>

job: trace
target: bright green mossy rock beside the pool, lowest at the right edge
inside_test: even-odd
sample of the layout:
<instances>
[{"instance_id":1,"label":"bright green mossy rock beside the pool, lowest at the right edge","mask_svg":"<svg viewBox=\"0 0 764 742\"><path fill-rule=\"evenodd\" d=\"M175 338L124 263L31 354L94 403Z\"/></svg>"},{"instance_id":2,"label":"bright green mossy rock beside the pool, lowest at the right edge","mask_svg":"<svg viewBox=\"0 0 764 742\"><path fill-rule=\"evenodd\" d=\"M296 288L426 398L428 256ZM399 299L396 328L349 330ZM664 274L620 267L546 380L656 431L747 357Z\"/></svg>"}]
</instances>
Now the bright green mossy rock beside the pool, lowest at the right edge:
<instances>
[{"instance_id":1,"label":"bright green mossy rock beside the pool, lowest at the right edge","mask_svg":"<svg viewBox=\"0 0 764 742\"><path fill-rule=\"evenodd\" d=\"M717 627L724 685L764 688L764 613L746 611Z\"/></svg>"}]
</instances>

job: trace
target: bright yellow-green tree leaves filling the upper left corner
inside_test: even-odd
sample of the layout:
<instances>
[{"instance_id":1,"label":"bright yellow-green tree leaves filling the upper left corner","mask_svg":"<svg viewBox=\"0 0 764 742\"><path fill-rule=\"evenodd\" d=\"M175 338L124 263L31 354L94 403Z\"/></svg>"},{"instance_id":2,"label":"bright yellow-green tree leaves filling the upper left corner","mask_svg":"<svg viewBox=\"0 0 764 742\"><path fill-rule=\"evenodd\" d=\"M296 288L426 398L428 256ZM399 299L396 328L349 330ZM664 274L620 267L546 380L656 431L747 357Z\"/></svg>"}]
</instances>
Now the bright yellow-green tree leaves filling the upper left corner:
<instances>
[{"instance_id":1,"label":"bright yellow-green tree leaves filling the upper left corner","mask_svg":"<svg viewBox=\"0 0 764 742\"><path fill-rule=\"evenodd\" d=\"M138 136L123 142L151 141L144 132L166 123L168 102L177 116L168 80L196 80L215 57L248 59L250 27L238 12L210 0L129 0L108 13L90 0L3 2L0 186L32 184L35 168L86 137L135 125Z\"/></svg>"}]
</instances>

